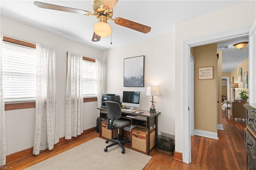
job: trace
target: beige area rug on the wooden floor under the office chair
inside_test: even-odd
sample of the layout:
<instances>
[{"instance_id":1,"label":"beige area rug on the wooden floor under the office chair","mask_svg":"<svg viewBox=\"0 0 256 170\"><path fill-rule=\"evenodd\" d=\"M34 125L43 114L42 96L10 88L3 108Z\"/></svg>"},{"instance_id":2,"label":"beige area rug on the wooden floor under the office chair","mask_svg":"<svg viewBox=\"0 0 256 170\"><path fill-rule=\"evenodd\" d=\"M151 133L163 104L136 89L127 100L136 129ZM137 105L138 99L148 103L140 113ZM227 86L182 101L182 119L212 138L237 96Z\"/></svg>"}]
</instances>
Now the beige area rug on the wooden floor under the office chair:
<instances>
[{"instance_id":1,"label":"beige area rug on the wooden floor under the office chair","mask_svg":"<svg viewBox=\"0 0 256 170\"><path fill-rule=\"evenodd\" d=\"M110 142L108 143L110 144ZM115 145L104 152L104 139L94 138L75 148L26 168L27 170L139 170L152 158L135 150Z\"/></svg>"}]
</instances>

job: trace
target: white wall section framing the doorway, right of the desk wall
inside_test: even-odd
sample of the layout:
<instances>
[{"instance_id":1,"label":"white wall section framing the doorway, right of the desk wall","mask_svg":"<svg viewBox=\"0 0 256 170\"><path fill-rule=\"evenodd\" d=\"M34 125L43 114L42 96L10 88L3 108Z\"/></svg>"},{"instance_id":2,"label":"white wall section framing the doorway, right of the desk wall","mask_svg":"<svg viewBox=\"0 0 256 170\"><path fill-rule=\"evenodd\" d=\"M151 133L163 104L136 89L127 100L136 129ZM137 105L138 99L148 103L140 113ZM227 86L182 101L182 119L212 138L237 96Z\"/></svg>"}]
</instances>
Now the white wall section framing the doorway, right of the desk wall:
<instances>
[{"instance_id":1,"label":"white wall section framing the doorway, right of the desk wall","mask_svg":"<svg viewBox=\"0 0 256 170\"><path fill-rule=\"evenodd\" d=\"M176 90L176 110L175 110L175 150L183 152L182 148L182 113L183 108L183 42L194 38L201 38L227 32L238 28L251 26L255 18L255 1L247 1L223 10L218 10L206 15L202 15L184 22L176 24L175 40L175 90ZM240 15L243 14L243 15ZM246 16L246 18L244 18Z\"/></svg>"}]
</instances>

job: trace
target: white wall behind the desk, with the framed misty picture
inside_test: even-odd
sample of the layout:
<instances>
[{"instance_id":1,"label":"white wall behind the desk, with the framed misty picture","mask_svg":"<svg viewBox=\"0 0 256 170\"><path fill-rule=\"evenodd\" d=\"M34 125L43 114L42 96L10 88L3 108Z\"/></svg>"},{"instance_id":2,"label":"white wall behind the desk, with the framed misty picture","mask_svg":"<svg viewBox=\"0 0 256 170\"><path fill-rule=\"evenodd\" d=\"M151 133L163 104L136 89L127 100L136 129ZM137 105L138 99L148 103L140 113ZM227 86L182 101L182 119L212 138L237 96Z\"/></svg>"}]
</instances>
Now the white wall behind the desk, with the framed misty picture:
<instances>
[{"instance_id":1,"label":"white wall behind the desk, with the framed misty picture","mask_svg":"<svg viewBox=\"0 0 256 170\"><path fill-rule=\"evenodd\" d=\"M140 109L149 110L151 97L146 96L147 86L158 86L160 96L155 96L158 116L158 134L160 131L174 134L175 89L174 89L174 33L124 45L105 51L106 93L120 95L122 91L141 91ZM124 58L145 55L144 87L124 87Z\"/></svg>"}]
</instances>

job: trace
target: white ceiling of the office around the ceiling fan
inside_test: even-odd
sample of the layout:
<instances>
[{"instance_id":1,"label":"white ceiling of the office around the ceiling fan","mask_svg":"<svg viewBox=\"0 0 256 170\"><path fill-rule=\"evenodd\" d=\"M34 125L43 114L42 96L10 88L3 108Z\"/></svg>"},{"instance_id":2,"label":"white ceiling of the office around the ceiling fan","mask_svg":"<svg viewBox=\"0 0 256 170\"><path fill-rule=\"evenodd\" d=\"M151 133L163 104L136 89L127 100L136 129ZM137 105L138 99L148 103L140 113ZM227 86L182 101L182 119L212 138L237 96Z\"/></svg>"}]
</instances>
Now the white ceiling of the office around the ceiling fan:
<instances>
[{"instance_id":1,"label":"white ceiling of the office around the ceiling fan","mask_svg":"<svg viewBox=\"0 0 256 170\"><path fill-rule=\"evenodd\" d=\"M40 1L40 0L39 0ZM111 37L101 38L100 42L92 42L93 26L98 22L95 16L84 16L56 10L38 8L34 1L0 1L0 14L19 20L26 24L42 28L71 40L90 45L98 49L110 49L129 43L169 34L174 31L175 23L207 14L216 10L244 2L244 0L119 0L113 17L122 17L151 27L148 34L143 34L108 21L112 27ZM40 1L60 6L78 8L93 12L93 0L79 1ZM235 41L235 40L234 40ZM224 42L222 43L223 46ZM219 44L218 44L219 46ZM230 49L223 51L229 53ZM243 49L242 49L243 50ZM237 52L233 52L232 56ZM228 54L231 55L231 54ZM245 56L244 54L242 56ZM248 56L248 55L247 55ZM224 58L224 57L223 57ZM230 61L230 59L227 59ZM234 61L232 59L232 61ZM224 67L225 65L223 65ZM228 68L228 66L225 66Z\"/></svg>"}]
</instances>

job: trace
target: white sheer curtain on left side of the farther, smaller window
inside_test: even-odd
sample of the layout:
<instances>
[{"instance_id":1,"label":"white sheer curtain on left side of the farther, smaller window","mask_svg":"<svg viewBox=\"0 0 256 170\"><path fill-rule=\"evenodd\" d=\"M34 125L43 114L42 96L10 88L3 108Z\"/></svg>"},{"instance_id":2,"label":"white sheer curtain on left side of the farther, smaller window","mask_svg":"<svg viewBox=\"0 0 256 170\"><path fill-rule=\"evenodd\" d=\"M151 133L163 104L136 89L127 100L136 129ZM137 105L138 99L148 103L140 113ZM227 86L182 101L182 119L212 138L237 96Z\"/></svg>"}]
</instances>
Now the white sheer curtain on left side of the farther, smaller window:
<instances>
[{"instance_id":1,"label":"white sheer curtain on left side of the farther, smaller window","mask_svg":"<svg viewBox=\"0 0 256 170\"><path fill-rule=\"evenodd\" d=\"M68 52L65 139L71 139L83 132L82 59L83 55Z\"/></svg>"}]
</instances>

